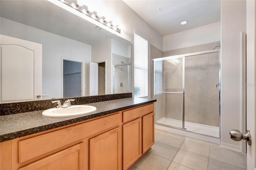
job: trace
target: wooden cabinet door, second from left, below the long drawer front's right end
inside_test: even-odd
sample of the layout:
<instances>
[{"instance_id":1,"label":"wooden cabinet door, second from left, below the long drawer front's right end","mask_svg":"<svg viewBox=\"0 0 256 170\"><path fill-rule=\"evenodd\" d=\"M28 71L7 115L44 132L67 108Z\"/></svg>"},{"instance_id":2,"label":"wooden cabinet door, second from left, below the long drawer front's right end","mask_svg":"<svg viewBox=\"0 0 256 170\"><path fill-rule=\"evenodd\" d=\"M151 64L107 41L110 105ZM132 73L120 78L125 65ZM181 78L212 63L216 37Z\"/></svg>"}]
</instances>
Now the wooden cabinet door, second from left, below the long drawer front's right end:
<instances>
[{"instance_id":1,"label":"wooden cabinet door, second from left, below the long drawer front's right end","mask_svg":"<svg viewBox=\"0 0 256 170\"><path fill-rule=\"evenodd\" d=\"M121 127L114 128L90 139L90 170L122 169L122 138L120 129Z\"/></svg>"}]
</instances>

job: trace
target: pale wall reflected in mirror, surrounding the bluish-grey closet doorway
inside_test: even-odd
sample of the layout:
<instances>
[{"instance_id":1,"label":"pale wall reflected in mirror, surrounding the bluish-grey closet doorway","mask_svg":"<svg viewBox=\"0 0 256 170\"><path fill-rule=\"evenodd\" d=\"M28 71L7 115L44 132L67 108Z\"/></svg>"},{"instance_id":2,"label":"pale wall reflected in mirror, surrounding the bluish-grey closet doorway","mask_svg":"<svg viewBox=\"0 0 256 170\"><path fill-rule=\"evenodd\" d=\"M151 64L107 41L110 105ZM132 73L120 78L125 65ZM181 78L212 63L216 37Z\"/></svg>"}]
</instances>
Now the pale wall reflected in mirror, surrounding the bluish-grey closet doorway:
<instances>
[{"instance_id":1,"label":"pale wall reflected in mirror, surrounding the bluish-grey closet doorway","mask_svg":"<svg viewBox=\"0 0 256 170\"><path fill-rule=\"evenodd\" d=\"M91 46L18 22L1 19L0 34L42 44L42 92L49 98L61 97L61 57L83 62L83 96L88 95L88 69Z\"/></svg>"}]
</instances>

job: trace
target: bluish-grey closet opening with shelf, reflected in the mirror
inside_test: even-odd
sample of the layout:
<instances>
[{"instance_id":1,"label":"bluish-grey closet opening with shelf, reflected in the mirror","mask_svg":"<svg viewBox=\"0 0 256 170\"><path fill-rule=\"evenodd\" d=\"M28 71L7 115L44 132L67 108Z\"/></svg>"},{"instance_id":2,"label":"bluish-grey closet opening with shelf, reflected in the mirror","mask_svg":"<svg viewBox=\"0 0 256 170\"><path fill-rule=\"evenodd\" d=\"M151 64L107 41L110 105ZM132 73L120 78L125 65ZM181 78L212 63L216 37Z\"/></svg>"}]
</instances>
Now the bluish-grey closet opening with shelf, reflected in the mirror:
<instances>
[{"instance_id":1,"label":"bluish-grey closet opening with shelf, reflected in the mirror","mask_svg":"<svg viewBox=\"0 0 256 170\"><path fill-rule=\"evenodd\" d=\"M82 63L63 60L63 97L82 96Z\"/></svg>"}]
</instances>

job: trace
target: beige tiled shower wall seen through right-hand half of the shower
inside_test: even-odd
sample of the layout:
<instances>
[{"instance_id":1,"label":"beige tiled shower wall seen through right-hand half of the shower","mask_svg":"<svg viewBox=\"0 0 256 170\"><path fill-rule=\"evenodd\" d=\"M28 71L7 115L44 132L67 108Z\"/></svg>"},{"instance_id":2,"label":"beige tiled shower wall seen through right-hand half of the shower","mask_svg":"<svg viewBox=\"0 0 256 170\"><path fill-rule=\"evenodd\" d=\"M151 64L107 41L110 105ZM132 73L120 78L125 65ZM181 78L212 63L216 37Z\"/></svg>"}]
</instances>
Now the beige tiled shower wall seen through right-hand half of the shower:
<instances>
[{"instance_id":1,"label":"beige tiled shower wall seen through right-hand half of the shower","mask_svg":"<svg viewBox=\"0 0 256 170\"><path fill-rule=\"evenodd\" d=\"M185 57L185 121L219 127L219 53Z\"/></svg>"}]
</instances>

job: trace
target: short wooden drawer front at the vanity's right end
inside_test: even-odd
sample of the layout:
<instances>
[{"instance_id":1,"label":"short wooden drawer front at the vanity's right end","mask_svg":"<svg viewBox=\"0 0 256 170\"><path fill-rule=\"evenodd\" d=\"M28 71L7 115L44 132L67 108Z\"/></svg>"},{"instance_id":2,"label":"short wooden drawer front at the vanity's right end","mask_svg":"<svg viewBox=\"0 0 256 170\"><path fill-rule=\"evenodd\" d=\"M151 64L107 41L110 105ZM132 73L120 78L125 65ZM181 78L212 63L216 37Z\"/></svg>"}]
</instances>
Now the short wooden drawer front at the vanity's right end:
<instances>
[{"instance_id":1,"label":"short wooden drawer front at the vanity's right end","mask_svg":"<svg viewBox=\"0 0 256 170\"><path fill-rule=\"evenodd\" d=\"M123 112L123 122L154 112L154 103Z\"/></svg>"}]
</instances>

